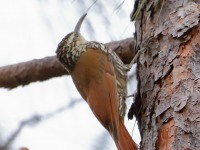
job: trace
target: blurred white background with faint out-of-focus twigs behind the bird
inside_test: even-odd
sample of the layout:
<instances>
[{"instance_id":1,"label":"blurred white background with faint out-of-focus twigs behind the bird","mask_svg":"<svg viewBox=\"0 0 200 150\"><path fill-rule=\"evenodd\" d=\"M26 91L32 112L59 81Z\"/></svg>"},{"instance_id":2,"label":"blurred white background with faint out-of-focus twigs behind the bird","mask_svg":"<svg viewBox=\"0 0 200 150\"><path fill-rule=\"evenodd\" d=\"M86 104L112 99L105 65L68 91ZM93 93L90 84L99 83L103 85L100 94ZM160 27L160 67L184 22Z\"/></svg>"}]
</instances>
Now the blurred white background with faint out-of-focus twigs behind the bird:
<instances>
[{"instance_id":1,"label":"blurred white background with faint out-of-focus twigs behind the bird","mask_svg":"<svg viewBox=\"0 0 200 150\"><path fill-rule=\"evenodd\" d=\"M0 0L0 66L55 55L57 44L73 31L88 8L81 33L107 43L133 37L130 0ZM129 94L136 90L135 66ZM131 88L130 88L131 87ZM131 90L130 90L131 89ZM132 98L127 99L128 108ZM133 139L135 120L125 120ZM134 130L133 130L134 129ZM107 131L63 76L13 90L0 89L0 150L115 150Z\"/></svg>"}]
</instances>

